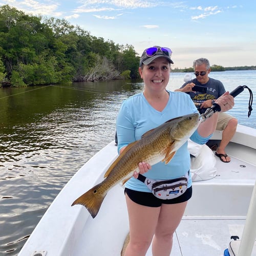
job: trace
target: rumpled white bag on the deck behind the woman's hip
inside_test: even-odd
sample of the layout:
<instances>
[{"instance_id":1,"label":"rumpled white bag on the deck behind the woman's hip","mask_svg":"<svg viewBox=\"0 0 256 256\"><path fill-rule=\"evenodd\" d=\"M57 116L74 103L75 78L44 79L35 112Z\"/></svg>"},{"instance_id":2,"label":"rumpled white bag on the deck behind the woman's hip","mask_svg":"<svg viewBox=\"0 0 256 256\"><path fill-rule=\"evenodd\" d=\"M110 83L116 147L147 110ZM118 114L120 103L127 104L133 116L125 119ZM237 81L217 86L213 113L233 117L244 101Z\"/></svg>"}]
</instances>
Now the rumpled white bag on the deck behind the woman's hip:
<instances>
[{"instance_id":1,"label":"rumpled white bag on the deck behind the woman's hip","mask_svg":"<svg viewBox=\"0 0 256 256\"><path fill-rule=\"evenodd\" d=\"M188 151L194 156L190 158L192 181L209 180L217 175L216 158L207 145L188 140Z\"/></svg>"}]
</instances>

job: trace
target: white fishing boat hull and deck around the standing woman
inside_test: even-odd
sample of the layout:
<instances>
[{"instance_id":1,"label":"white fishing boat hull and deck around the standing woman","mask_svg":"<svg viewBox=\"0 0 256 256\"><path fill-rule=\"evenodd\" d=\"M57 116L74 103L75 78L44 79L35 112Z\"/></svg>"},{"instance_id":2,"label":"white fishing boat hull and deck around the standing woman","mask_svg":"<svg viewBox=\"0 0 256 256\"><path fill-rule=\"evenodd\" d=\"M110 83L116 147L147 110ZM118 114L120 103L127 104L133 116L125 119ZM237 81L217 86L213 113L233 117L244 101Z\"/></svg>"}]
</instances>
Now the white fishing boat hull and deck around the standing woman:
<instances>
[{"instance_id":1,"label":"white fishing boat hull and deck around the standing woman","mask_svg":"<svg viewBox=\"0 0 256 256\"><path fill-rule=\"evenodd\" d=\"M229 143L226 153L231 156L230 163L223 163L215 156L218 172L214 179L193 182L193 197L176 230L170 255L219 256L228 248L230 236L242 237L256 180L256 130L251 131L254 133L251 137L246 133L249 147L240 145L244 137L238 136L234 138L237 143ZM85 207L71 207L78 196L102 181L115 157L116 147L112 142L75 174L42 217L19 256L39 256L43 254L37 252L42 251L47 256L120 255L129 231L121 186L109 191L95 219ZM146 255L152 256L151 248Z\"/></svg>"}]
</instances>

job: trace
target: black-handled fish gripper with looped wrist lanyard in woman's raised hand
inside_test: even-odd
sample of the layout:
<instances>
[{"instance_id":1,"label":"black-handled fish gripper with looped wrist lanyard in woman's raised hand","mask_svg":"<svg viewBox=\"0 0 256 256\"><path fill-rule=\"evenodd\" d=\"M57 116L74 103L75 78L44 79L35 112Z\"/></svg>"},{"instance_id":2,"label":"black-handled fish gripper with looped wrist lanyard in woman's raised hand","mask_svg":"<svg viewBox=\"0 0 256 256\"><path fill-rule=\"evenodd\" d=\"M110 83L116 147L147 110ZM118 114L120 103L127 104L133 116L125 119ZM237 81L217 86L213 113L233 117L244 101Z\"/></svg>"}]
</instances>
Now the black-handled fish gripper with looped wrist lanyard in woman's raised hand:
<instances>
[{"instance_id":1,"label":"black-handled fish gripper with looped wrist lanyard in woman's raised hand","mask_svg":"<svg viewBox=\"0 0 256 256\"><path fill-rule=\"evenodd\" d=\"M248 89L248 91L250 93L249 104L248 104L248 117L250 117L251 111L252 111L251 105L252 105L252 99L253 99L251 89L247 86L238 86L236 89L234 89L229 94L233 97L236 97L237 95L239 95L241 92L244 91L244 88ZM220 111L221 111L220 105L217 103L214 103L214 104L212 104L211 108L207 109L205 111L205 113L200 116L200 119L202 120L202 122L204 122L207 118L211 117L215 112L220 112Z\"/></svg>"}]
</instances>

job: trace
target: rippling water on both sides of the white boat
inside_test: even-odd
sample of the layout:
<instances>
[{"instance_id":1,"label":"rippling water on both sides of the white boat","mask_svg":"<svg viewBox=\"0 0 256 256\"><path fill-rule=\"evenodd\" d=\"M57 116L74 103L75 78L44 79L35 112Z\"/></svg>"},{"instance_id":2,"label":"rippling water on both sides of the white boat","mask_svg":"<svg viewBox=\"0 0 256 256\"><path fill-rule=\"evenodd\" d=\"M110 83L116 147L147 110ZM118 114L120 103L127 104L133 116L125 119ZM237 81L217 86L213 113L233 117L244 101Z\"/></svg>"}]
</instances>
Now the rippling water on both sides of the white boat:
<instances>
[{"instance_id":1,"label":"rippling water on both sides of the white boat","mask_svg":"<svg viewBox=\"0 0 256 256\"><path fill-rule=\"evenodd\" d=\"M167 86L183 84L171 73ZM256 71L212 72L226 90L248 86ZM115 137L121 102L143 90L141 82L74 83L0 90L0 255L17 255L60 189ZM230 114L256 127L256 108L247 117L249 93L235 98ZM63 209L65 210L65 209Z\"/></svg>"}]
</instances>

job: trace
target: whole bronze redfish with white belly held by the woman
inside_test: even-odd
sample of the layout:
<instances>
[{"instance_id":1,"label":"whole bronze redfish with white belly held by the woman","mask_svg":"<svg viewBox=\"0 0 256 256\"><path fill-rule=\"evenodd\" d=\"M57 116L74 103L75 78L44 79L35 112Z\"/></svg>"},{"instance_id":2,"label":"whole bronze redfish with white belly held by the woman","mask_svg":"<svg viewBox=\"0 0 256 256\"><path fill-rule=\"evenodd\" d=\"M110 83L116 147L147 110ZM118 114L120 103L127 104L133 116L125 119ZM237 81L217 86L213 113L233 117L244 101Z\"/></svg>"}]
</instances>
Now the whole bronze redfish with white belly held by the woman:
<instances>
[{"instance_id":1,"label":"whole bronze redfish with white belly held by the woman","mask_svg":"<svg viewBox=\"0 0 256 256\"><path fill-rule=\"evenodd\" d=\"M77 198L72 206L85 206L95 218L106 194L113 186L124 184L135 171L139 173L140 162L153 165L162 161L167 164L195 132L198 124L199 114L193 113L170 119L146 132L140 140L127 145L106 171L104 180Z\"/></svg>"}]
</instances>

